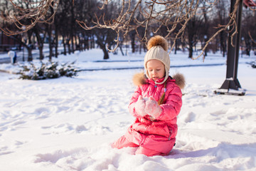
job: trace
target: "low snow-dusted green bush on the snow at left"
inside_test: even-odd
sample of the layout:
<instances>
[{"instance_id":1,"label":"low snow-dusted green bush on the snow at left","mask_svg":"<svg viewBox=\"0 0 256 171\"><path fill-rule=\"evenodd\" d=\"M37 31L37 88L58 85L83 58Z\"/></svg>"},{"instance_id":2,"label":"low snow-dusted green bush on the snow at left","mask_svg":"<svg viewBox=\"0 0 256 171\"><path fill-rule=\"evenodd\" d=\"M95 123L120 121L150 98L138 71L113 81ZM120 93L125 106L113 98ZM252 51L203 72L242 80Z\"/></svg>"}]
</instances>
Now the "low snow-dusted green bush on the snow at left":
<instances>
[{"instance_id":1,"label":"low snow-dusted green bush on the snow at left","mask_svg":"<svg viewBox=\"0 0 256 171\"><path fill-rule=\"evenodd\" d=\"M34 63L21 66L21 79L27 80L44 80L48 78L59 78L60 76L73 77L78 73L78 69L72 66L73 63L64 63L59 65L58 62L41 62L41 66Z\"/></svg>"}]
</instances>

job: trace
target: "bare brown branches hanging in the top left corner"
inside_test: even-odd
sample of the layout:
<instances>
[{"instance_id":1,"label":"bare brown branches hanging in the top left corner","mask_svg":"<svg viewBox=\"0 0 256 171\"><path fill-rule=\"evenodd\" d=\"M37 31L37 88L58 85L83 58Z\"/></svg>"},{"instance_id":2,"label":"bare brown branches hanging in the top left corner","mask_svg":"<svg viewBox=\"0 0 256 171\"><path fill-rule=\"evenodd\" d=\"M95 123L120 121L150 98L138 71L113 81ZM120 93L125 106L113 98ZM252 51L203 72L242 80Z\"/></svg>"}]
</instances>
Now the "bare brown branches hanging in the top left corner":
<instances>
[{"instance_id":1,"label":"bare brown branches hanging in the top left corner","mask_svg":"<svg viewBox=\"0 0 256 171\"><path fill-rule=\"evenodd\" d=\"M53 22L55 11L58 8L59 0L7 0L10 2L9 6L13 8L8 8L9 10L4 11L1 14L1 20L14 24L16 29L3 28L0 27L6 35L14 35L19 33L24 33L38 23L48 23ZM6 1L6 3L7 3ZM26 6L24 6L26 4ZM47 12L53 9L53 14L46 18ZM26 22L29 20L29 23Z\"/></svg>"}]
</instances>

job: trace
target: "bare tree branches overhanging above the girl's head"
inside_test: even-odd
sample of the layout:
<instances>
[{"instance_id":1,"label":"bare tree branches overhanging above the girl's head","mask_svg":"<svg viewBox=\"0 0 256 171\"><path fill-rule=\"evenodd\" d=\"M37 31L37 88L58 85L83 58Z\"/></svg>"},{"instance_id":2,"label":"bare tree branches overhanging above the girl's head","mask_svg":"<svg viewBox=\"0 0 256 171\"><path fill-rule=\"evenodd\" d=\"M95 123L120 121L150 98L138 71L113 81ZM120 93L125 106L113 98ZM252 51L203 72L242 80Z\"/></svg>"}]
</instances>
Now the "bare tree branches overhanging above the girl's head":
<instances>
[{"instance_id":1,"label":"bare tree branches overhanging above the girl's head","mask_svg":"<svg viewBox=\"0 0 256 171\"><path fill-rule=\"evenodd\" d=\"M117 41L117 46L119 44L119 35L121 32L123 32L123 36L127 36L130 31L137 31L137 28L144 27L144 36L141 37L141 40L147 41L149 26L151 24L157 23L159 25L159 28L161 28L161 26L166 26L168 32L166 38L170 38L171 33L175 31L176 27L179 24L181 24L181 28L179 28L178 33L176 33L173 38L174 43L171 46L172 49L175 46L175 40L177 38L184 38L183 36L186 31L185 28L186 26L188 26L188 22L190 22L191 19L194 19L195 16L201 15L203 11L202 9L213 8L213 6L218 4L218 2L218 0L208 0L206 1L204 6L201 6L201 0L138 0L137 4L132 6L132 0L122 0L122 8L116 18L112 20L106 20L104 18L105 14L102 14L101 16L97 16L97 14L95 14L97 17L94 21L92 21L94 25L89 26L87 25L86 21L80 21L80 24L83 24L84 28L87 30L90 30L92 28L111 28L117 33L117 39L115 40ZM217 31L215 31L213 35L209 36L208 41L206 41L206 44L203 47L201 54L196 58L204 55L203 51L206 50L210 41L213 41L213 39L218 36L221 31L228 31L228 28L234 26L233 29L235 29L235 31L231 35L233 39L235 34L238 32L235 18L238 11L239 2L240 0L235 0L234 10L230 14L230 19L225 24L218 24ZM104 9L105 6L110 3L112 3L112 1L105 0L100 9ZM141 4L146 5L145 7L143 7L141 6ZM143 20L136 19L135 14L137 14L138 11L144 16ZM154 30L154 33L157 33L159 31L159 28L156 28L156 30ZM111 51L114 51L117 46Z\"/></svg>"}]
</instances>

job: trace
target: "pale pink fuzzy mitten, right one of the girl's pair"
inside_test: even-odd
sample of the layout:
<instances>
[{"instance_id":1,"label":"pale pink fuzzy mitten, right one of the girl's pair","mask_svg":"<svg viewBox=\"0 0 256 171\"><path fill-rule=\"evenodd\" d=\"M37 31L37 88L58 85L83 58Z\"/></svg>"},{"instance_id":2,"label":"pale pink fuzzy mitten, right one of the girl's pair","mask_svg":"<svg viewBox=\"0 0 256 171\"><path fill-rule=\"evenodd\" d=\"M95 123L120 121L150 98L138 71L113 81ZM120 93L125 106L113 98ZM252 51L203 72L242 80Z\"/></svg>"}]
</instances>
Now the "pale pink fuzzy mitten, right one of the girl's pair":
<instances>
[{"instance_id":1,"label":"pale pink fuzzy mitten, right one of the girl's pair","mask_svg":"<svg viewBox=\"0 0 256 171\"><path fill-rule=\"evenodd\" d=\"M157 118L163 109L158 105L154 98L150 97L149 100L146 101L145 112L148 115L151 115L153 118Z\"/></svg>"}]
</instances>

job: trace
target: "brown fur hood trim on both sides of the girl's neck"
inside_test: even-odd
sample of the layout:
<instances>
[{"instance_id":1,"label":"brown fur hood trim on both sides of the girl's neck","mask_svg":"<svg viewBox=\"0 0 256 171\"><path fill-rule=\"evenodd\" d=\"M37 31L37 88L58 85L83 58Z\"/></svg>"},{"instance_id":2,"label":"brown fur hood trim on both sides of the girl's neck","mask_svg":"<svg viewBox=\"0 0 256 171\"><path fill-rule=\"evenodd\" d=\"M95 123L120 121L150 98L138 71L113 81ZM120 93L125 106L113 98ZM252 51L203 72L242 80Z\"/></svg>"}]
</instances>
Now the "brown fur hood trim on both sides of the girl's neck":
<instances>
[{"instance_id":1,"label":"brown fur hood trim on both sides of the girl's neck","mask_svg":"<svg viewBox=\"0 0 256 171\"><path fill-rule=\"evenodd\" d=\"M175 83L179 88L183 89L185 87L186 81L185 81L185 77L183 76L183 74L176 73L172 78L175 80ZM132 81L135 86L142 86L143 84L146 84L146 82L147 82L146 77L143 72L134 74Z\"/></svg>"}]
</instances>

